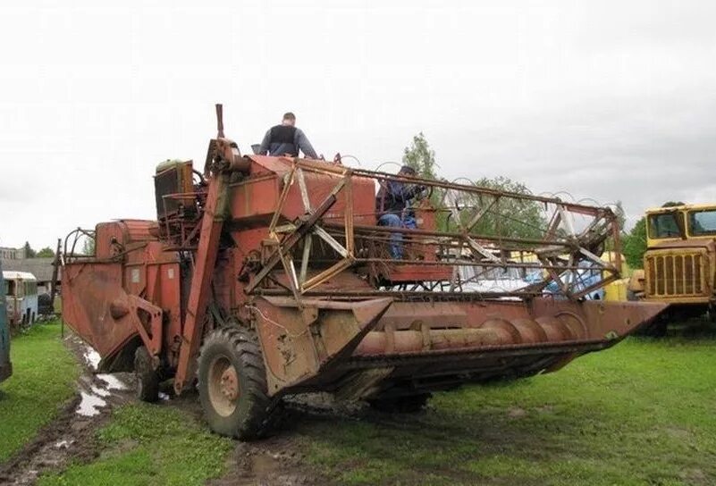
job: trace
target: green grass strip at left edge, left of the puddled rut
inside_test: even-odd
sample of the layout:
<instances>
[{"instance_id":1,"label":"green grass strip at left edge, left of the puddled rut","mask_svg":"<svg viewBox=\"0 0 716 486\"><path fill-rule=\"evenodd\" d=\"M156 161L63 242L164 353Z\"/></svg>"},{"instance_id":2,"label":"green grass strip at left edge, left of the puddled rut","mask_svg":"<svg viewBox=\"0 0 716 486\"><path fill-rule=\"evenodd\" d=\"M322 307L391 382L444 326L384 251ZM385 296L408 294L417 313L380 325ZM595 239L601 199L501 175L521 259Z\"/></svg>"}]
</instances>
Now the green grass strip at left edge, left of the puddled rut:
<instances>
[{"instance_id":1,"label":"green grass strip at left edge, left of the puddled rut","mask_svg":"<svg viewBox=\"0 0 716 486\"><path fill-rule=\"evenodd\" d=\"M0 384L0 462L55 418L80 374L58 323L38 324L13 338L10 358L13 376Z\"/></svg>"}]
</instances>

